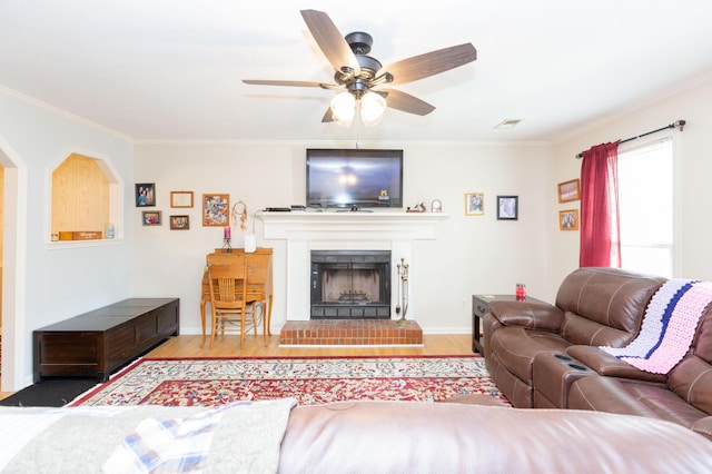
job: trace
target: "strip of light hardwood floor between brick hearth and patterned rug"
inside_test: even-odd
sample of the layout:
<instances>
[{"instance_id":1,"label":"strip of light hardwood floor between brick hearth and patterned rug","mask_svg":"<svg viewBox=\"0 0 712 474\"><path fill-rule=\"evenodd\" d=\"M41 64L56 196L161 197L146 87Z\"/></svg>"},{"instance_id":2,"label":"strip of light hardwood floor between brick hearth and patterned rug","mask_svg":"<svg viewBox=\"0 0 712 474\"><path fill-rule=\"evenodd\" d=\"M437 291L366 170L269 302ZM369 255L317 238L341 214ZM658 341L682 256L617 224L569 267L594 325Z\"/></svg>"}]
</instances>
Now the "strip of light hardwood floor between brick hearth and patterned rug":
<instances>
[{"instance_id":1,"label":"strip of light hardwood floor between brick hearth and patterned rug","mask_svg":"<svg viewBox=\"0 0 712 474\"><path fill-rule=\"evenodd\" d=\"M424 335L422 347L279 347L279 336L263 339L248 335L240 349L239 336L221 336L200 347L202 336L177 336L148 353L147 357L309 357L309 356L390 356L390 355L469 355L472 337L467 334Z\"/></svg>"}]
</instances>

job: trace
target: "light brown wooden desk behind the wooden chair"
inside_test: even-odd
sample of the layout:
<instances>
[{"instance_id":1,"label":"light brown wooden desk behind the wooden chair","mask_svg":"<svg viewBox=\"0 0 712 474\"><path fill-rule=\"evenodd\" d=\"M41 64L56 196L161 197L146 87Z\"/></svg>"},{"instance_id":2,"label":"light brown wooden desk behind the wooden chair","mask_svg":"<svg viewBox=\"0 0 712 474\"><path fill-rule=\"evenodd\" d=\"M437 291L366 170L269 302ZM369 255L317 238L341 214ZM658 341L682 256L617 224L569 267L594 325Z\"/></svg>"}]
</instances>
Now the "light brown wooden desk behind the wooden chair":
<instances>
[{"instance_id":1,"label":"light brown wooden desk behind the wooden chair","mask_svg":"<svg viewBox=\"0 0 712 474\"><path fill-rule=\"evenodd\" d=\"M216 254L226 253L227 250L216 248ZM234 248L230 253L245 254L244 248ZM207 257L206 257L207 258ZM263 304L263 334L271 336L271 248L259 247L253 254L245 254L247 263L247 299L251 302L260 302ZM204 273L200 289L200 323L202 325L202 345L205 345L206 319L205 306L210 303L210 285L208 284L208 275Z\"/></svg>"}]
</instances>

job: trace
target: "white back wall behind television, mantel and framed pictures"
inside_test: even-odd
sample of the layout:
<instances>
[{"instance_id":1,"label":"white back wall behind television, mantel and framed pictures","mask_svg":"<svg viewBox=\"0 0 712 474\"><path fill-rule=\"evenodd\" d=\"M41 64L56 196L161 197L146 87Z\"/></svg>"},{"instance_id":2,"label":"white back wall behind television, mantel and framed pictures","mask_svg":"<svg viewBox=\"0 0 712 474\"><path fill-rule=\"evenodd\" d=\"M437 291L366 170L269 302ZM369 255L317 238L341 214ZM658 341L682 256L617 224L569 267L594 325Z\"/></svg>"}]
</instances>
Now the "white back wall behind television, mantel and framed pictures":
<instances>
[{"instance_id":1,"label":"white back wall behind television, mantel and framed pictures","mask_svg":"<svg viewBox=\"0 0 712 474\"><path fill-rule=\"evenodd\" d=\"M250 215L268 206L305 201L305 149L339 148L333 142L154 142L137 144L135 180L156 182L164 225L140 225L135 208L135 296L181 298L181 333L199 333L198 303L205 255L222 245L222 229L201 226L201 195L220 192L247 203ZM362 148L403 148L406 206L443 201L449 216L437 240L416 244L418 323L426 332L468 333L475 293L512 293L516 283L530 294L553 295L550 260L555 203L551 149L531 144L483 146L464 144L360 144ZM170 191L195 192L192 209L171 209ZM485 216L465 216L465 192L485 192ZM495 197L520 196L520 219L496 220ZM405 210L405 209L404 209ZM129 213L131 214L131 213ZM190 230L169 230L170 215L188 214ZM253 219L250 218L250 225ZM258 246L275 249L273 332L286 320L286 259L283 241L265 241L256 225ZM234 231L234 247L241 246ZM425 275L425 276L424 276ZM308 275L305 275L307 278Z\"/></svg>"}]
</instances>

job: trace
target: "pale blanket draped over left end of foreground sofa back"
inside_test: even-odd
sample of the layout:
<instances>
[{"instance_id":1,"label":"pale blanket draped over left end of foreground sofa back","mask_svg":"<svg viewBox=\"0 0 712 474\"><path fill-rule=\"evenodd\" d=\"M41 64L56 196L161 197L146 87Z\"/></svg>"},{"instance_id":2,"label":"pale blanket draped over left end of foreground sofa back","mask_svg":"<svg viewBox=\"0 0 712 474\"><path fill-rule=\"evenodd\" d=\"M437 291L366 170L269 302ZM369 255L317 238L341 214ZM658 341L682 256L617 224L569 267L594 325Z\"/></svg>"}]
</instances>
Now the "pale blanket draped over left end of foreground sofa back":
<instances>
[{"instance_id":1,"label":"pale blanket draped over left end of foreground sofa back","mask_svg":"<svg viewBox=\"0 0 712 474\"><path fill-rule=\"evenodd\" d=\"M189 463L180 463L196 458L192 456L198 453L200 464L190 472L276 472L281 438L296 404L294 398L281 398L217 409L148 405L0 407L0 471L180 472L176 466L188 470ZM158 425L169 428L157 435ZM149 464L122 457L127 438L137 440L137 435L142 443L152 444L157 454Z\"/></svg>"}]
</instances>

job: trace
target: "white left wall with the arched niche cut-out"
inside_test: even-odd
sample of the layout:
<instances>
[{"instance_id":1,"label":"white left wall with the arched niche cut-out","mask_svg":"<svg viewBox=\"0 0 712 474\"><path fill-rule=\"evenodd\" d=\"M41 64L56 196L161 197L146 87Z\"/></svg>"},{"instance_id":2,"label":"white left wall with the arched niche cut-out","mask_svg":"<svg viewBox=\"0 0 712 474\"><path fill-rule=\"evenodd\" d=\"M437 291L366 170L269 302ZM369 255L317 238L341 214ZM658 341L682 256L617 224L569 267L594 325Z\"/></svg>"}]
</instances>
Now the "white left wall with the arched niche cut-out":
<instances>
[{"instance_id":1,"label":"white left wall with the arched niche cut-out","mask_svg":"<svg viewBox=\"0 0 712 474\"><path fill-rule=\"evenodd\" d=\"M3 165L20 169L18 189L6 194L4 203L6 214L8 208L21 214L11 227L6 226L3 243L6 248L17 247L17 255L6 253L2 298L2 389L13 391L31 383L33 329L129 296L130 241L60 249L47 244L49 172L79 151L110 160L122 179L132 184L134 150L123 137L3 89L0 147ZM10 259L14 269L7 268Z\"/></svg>"}]
</instances>

